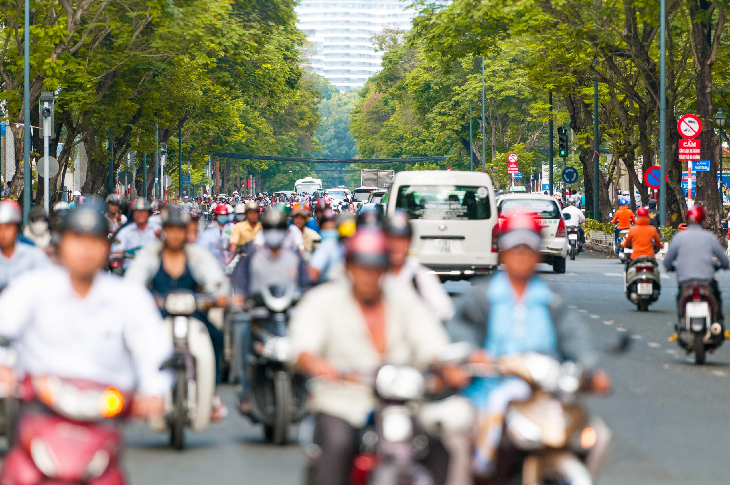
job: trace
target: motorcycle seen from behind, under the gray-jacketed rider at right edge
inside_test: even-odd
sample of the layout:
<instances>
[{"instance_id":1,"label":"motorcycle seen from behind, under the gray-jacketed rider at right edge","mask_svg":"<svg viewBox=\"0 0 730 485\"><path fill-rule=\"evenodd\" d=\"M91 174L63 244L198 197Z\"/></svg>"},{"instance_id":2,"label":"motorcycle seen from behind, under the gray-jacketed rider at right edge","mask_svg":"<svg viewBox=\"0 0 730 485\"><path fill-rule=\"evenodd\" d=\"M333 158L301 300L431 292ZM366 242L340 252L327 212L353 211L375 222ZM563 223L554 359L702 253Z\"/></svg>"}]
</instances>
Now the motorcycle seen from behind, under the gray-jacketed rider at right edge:
<instances>
[{"instance_id":1,"label":"motorcycle seen from behind, under the gray-jacketed rider at right edge","mask_svg":"<svg viewBox=\"0 0 730 485\"><path fill-rule=\"evenodd\" d=\"M718 320L718 301L706 280L690 280L683 283L677 302L680 322L677 333L669 338L676 340L687 354L694 352L696 364L707 361L707 351L715 351L727 335Z\"/></svg>"}]
</instances>

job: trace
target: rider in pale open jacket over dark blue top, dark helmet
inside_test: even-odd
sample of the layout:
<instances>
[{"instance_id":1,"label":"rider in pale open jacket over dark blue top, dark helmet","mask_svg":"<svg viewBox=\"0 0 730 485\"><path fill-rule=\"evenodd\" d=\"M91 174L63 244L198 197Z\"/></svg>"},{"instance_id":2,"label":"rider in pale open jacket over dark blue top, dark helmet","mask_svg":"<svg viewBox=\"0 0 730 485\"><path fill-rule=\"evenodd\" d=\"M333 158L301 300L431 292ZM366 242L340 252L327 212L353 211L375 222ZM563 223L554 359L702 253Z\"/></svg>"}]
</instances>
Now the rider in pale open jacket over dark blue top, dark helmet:
<instances>
[{"instance_id":1,"label":"rider in pale open jacket over dark blue top, dark helmet","mask_svg":"<svg viewBox=\"0 0 730 485\"><path fill-rule=\"evenodd\" d=\"M170 291L192 291L218 297L218 306L227 305L231 294L228 278L210 251L201 245L189 244L190 215L177 207L169 207L163 215L162 240L142 248L129 265L124 278L142 283L153 294ZM204 313L196 318L205 324L215 352L216 383L220 383L220 359L223 355L223 333L210 323ZM226 407L216 395L213 419L226 416Z\"/></svg>"}]
</instances>

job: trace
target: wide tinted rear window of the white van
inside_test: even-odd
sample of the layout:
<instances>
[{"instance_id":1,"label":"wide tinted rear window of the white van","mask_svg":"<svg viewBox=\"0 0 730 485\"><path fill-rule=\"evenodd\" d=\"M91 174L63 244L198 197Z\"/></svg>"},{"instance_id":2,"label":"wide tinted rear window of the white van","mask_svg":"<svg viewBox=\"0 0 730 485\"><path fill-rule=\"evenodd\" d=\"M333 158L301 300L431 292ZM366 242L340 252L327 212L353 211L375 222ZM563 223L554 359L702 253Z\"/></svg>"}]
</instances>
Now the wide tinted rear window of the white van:
<instances>
[{"instance_id":1,"label":"wide tinted rear window of the white van","mask_svg":"<svg viewBox=\"0 0 730 485\"><path fill-rule=\"evenodd\" d=\"M472 186L401 186L396 209L412 219L488 219L488 190Z\"/></svg>"}]
</instances>

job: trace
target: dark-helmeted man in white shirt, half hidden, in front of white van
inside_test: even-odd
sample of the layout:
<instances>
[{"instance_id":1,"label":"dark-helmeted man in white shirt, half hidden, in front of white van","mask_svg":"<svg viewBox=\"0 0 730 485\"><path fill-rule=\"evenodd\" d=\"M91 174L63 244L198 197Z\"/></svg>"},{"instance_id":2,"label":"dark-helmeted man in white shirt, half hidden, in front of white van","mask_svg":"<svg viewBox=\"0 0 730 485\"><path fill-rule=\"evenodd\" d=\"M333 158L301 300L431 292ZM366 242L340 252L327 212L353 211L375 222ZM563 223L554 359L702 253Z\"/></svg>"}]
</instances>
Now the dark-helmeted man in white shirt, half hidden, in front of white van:
<instances>
[{"instance_id":1,"label":"dark-helmeted man in white shirt, half hidden, in front of white van","mask_svg":"<svg viewBox=\"0 0 730 485\"><path fill-rule=\"evenodd\" d=\"M449 321L454 315L454 307L441 281L428 268L419 264L418 259L408 257L413 235L408 216L402 210L396 211L385 219L383 231L388 259L391 261L385 274L385 283L413 289L439 321Z\"/></svg>"}]
</instances>

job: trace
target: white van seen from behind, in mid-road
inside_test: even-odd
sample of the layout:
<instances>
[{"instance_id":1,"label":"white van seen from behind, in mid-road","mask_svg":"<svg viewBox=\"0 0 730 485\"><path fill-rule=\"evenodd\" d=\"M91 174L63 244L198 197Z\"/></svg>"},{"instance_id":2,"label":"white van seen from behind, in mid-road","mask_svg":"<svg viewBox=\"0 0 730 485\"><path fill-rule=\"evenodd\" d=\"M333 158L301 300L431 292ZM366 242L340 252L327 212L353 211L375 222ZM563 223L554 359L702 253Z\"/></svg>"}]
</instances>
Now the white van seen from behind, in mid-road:
<instances>
[{"instance_id":1,"label":"white van seen from behind, in mid-road","mask_svg":"<svg viewBox=\"0 0 730 485\"><path fill-rule=\"evenodd\" d=\"M411 253L442 280L496 270L497 211L485 173L398 172L385 213L396 210L404 210L411 220Z\"/></svg>"}]
</instances>

